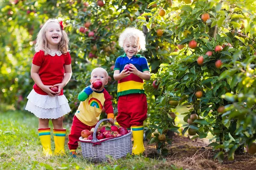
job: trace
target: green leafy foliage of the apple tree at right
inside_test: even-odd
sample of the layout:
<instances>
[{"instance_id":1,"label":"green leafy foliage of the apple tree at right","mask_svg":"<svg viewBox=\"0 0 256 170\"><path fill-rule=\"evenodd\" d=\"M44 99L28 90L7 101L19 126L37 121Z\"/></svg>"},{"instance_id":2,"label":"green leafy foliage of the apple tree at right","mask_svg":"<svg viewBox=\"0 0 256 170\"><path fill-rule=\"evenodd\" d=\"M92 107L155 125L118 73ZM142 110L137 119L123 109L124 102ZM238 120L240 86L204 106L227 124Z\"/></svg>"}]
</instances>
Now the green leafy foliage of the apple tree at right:
<instances>
[{"instance_id":1,"label":"green leafy foliage of the apple tree at right","mask_svg":"<svg viewBox=\"0 0 256 170\"><path fill-rule=\"evenodd\" d=\"M154 17L139 23L150 27L155 20L168 23L171 18L175 24L162 25L163 39L171 36L175 44L185 46L170 53L172 62L162 63L155 75L161 94L154 102L157 114L151 116L150 127L158 131L177 130L173 128L172 119L166 116L176 108L169 102L177 100L189 108L189 112L184 113L185 122L191 114L199 116L192 125L183 125L182 133L189 128L196 130L197 134L191 139L205 138L212 133L214 137L210 141L215 142L210 146L214 146L214 150L221 149L215 155L219 161L223 160L224 152L233 160L238 147L256 139L256 55L253 55L256 18L251 3L255 2L199 0L169 8L165 6L167 3L158 2L158 8L166 9L166 17L157 16L155 9L150 14ZM201 20L204 13L210 16L206 23ZM170 34L169 29L174 33ZM191 40L197 42L196 48L187 45ZM216 52L217 45L223 46L223 50ZM207 51L213 51L212 56L206 55ZM204 58L200 65L197 63L199 56ZM218 59L223 63L220 69L215 66ZM196 97L197 91L202 91L203 96ZM225 106L224 113L218 113L220 106Z\"/></svg>"}]
</instances>

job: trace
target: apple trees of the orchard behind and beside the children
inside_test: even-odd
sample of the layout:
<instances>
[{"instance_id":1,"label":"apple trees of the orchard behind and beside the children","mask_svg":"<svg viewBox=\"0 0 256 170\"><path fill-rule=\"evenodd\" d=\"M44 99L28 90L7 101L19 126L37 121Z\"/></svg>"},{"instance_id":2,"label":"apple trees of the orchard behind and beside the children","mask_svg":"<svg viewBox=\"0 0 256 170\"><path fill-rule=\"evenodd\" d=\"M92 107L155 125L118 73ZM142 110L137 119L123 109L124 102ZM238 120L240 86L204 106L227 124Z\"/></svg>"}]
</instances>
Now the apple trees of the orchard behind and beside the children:
<instances>
[{"instance_id":1,"label":"apple trees of the orchard behind and beside the children","mask_svg":"<svg viewBox=\"0 0 256 170\"><path fill-rule=\"evenodd\" d=\"M23 111L37 33L49 18L63 20L73 76L64 88L72 112L95 67L117 114L113 65L126 27L143 30L151 69L145 81L145 140L167 156L171 131L209 138L213 159L256 152L256 2L254 0L3 0L0 5L0 109ZM210 52L209 52L210 51ZM183 113L178 113L178 108ZM185 110L185 111L184 111ZM177 116L177 118L176 118ZM105 114L102 114L102 118ZM174 121L175 120L175 121ZM166 135L169 135L168 137Z\"/></svg>"}]
</instances>

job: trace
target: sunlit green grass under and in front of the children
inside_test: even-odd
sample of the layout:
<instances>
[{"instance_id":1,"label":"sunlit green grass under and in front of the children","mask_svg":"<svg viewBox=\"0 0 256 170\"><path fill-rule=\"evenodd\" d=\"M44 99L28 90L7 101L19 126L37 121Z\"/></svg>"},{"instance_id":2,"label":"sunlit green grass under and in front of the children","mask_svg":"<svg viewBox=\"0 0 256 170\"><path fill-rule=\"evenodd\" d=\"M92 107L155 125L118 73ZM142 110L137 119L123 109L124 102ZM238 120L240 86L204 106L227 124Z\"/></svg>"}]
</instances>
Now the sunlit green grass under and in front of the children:
<instances>
[{"instance_id":1,"label":"sunlit green grass under and in front of the children","mask_svg":"<svg viewBox=\"0 0 256 170\"><path fill-rule=\"evenodd\" d=\"M52 124L50 124L52 127ZM67 134L70 125L65 125ZM38 119L31 113L19 111L0 113L0 169L3 170L176 170L165 159L131 156L93 164L83 159L81 148L78 158L69 156L45 157L38 137ZM52 130L52 129L51 129ZM52 136L52 148L54 148ZM67 139L65 150L68 153ZM182 170L180 168L179 170Z\"/></svg>"}]
</instances>

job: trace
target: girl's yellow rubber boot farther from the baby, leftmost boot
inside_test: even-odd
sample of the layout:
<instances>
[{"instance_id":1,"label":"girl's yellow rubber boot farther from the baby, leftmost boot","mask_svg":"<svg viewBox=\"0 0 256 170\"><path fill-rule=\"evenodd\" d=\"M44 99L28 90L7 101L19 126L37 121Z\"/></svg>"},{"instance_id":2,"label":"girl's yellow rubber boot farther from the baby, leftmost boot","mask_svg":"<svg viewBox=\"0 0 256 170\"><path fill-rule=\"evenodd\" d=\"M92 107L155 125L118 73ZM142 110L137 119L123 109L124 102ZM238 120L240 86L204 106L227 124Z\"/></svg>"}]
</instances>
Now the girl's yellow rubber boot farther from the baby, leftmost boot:
<instances>
[{"instance_id":1,"label":"girl's yellow rubber boot farther from the baby, leftmost boot","mask_svg":"<svg viewBox=\"0 0 256 170\"><path fill-rule=\"evenodd\" d=\"M38 129L39 138L43 145L43 153L45 156L52 156L51 149L51 128L40 128Z\"/></svg>"}]
</instances>

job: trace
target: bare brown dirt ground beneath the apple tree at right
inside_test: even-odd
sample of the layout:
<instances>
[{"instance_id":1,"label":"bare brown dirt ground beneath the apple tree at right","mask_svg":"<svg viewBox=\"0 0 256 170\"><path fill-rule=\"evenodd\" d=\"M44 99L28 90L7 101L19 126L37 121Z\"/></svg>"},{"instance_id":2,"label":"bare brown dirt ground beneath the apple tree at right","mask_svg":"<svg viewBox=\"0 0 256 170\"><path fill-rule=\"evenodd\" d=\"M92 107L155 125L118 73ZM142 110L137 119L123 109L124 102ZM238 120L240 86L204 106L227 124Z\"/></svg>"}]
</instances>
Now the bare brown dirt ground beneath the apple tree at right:
<instances>
[{"instance_id":1,"label":"bare brown dirt ground beneath the apple tree at right","mask_svg":"<svg viewBox=\"0 0 256 170\"><path fill-rule=\"evenodd\" d=\"M235 155L234 161L228 161L225 156L222 164L213 160L215 154L207 147L208 139L190 140L184 136L173 136L172 145L167 145L169 155L165 157L170 164L189 170L256 170L256 155L248 153ZM145 145L145 156L159 157L155 144Z\"/></svg>"}]
</instances>

